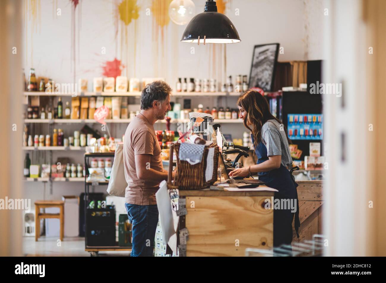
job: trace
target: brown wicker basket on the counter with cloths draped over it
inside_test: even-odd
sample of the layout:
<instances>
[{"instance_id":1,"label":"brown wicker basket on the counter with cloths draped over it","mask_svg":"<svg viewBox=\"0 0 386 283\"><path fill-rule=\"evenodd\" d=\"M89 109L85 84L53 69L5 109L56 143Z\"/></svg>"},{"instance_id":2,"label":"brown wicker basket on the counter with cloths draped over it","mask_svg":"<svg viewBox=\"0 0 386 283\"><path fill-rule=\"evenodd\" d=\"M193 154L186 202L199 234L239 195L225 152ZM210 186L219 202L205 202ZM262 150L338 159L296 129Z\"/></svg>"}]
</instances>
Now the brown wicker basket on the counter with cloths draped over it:
<instances>
[{"instance_id":1,"label":"brown wicker basket on the counter with cloths draped over it","mask_svg":"<svg viewBox=\"0 0 386 283\"><path fill-rule=\"evenodd\" d=\"M201 162L191 165L188 161L179 160L179 143L173 144L170 147L170 164L173 164L173 151L176 152L177 157L177 172L174 178L174 183L171 183L172 169L173 166L169 166L169 178L168 188L169 189L180 189L180 190L199 190L207 188L217 181L217 167L218 167L218 146L211 144L205 146L203 160ZM213 174L212 179L205 181L205 170L207 169L207 156L208 150L214 147L213 156Z\"/></svg>"}]
</instances>

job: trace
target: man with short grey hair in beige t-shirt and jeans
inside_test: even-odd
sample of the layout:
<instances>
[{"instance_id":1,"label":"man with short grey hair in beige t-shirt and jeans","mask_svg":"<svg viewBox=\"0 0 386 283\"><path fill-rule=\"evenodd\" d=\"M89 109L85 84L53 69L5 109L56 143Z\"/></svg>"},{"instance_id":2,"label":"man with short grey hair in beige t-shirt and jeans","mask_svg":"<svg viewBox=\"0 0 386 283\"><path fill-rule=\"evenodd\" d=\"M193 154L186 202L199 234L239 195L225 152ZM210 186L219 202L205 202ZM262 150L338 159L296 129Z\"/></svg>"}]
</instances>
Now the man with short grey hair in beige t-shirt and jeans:
<instances>
[{"instance_id":1,"label":"man with short grey hair in beige t-shirt and jeans","mask_svg":"<svg viewBox=\"0 0 386 283\"><path fill-rule=\"evenodd\" d=\"M141 95L141 113L125 132L124 167L127 188L125 206L132 223L131 256L152 256L158 223L156 191L168 178L163 169L161 147L154 123L165 119L170 106L171 88L162 81L146 85Z\"/></svg>"}]
</instances>

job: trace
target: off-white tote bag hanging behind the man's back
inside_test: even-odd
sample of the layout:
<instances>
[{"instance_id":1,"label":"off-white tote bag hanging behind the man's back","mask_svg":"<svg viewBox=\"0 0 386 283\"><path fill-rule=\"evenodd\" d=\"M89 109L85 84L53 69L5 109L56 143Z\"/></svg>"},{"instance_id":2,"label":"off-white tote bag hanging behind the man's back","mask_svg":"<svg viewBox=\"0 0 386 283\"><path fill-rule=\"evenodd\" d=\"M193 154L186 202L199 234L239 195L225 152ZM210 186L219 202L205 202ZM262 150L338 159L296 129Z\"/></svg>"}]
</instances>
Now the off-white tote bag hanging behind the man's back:
<instances>
[{"instance_id":1,"label":"off-white tote bag hanging behind the man's back","mask_svg":"<svg viewBox=\"0 0 386 283\"><path fill-rule=\"evenodd\" d=\"M123 144L117 144L115 147L114 163L111 169L107 193L112 196L120 196L124 198L126 187L127 183L123 164Z\"/></svg>"}]
</instances>

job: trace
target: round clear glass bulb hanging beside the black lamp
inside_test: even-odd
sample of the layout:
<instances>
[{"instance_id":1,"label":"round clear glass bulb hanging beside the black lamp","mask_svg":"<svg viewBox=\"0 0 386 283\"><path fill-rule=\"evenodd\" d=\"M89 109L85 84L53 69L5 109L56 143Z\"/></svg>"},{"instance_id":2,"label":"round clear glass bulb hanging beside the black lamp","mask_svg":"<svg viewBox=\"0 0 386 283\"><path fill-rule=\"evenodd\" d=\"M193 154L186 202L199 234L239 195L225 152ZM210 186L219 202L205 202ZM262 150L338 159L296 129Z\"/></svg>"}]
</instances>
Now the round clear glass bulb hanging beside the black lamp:
<instances>
[{"instance_id":1,"label":"round clear glass bulb hanging beside the black lamp","mask_svg":"<svg viewBox=\"0 0 386 283\"><path fill-rule=\"evenodd\" d=\"M169 17L177 25L186 25L195 15L192 0L173 0L169 5Z\"/></svg>"}]
</instances>

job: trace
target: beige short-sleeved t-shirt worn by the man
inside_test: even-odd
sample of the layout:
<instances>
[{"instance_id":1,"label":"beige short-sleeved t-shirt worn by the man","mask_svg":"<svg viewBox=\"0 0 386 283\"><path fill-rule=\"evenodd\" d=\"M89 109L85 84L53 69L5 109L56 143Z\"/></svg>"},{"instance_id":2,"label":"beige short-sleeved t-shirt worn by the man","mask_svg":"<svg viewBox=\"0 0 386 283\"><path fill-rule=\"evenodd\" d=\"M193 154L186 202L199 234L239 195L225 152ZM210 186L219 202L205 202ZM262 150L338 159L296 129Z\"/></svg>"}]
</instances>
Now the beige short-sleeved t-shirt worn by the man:
<instances>
[{"instance_id":1,"label":"beige short-sleeved t-shirt worn by the man","mask_svg":"<svg viewBox=\"0 0 386 283\"><path fill-rule=\"evenodd\" d=\"M123 158L125 179L128 184L125 201L130 204L157 204L156 191L159 182L139 179L135 169L135 155L150 154L150 168L163 171L161 147L156 137L153 125L149 124L141 114L132 119L125 132Z\"/></svg>"}]
</instances>

